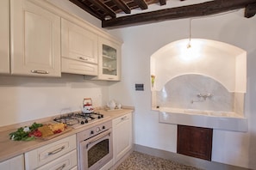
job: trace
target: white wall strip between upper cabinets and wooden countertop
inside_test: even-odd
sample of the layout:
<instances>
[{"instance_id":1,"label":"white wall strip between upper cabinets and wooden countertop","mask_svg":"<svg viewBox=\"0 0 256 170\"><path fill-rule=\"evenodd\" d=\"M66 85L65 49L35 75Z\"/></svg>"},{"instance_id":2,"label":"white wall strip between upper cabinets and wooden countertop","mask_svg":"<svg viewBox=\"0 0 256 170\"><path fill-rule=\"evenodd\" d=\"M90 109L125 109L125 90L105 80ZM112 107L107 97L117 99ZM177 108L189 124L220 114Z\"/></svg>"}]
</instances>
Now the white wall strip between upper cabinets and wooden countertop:
<instances>
[{"instance_id":1,"label":"white wall strip between upper cabinets and wooden countertop","mask_svg":"<svg viewBox=\"0 0 256 170\"><path fill-rule=\"evenodd\" d=\"M103 106L109 100L109 85L68 74L0 76L0 94L0 126L4 126L81 110L84 98L91 98L93 106Z\"/></svg>"}]
</instances>

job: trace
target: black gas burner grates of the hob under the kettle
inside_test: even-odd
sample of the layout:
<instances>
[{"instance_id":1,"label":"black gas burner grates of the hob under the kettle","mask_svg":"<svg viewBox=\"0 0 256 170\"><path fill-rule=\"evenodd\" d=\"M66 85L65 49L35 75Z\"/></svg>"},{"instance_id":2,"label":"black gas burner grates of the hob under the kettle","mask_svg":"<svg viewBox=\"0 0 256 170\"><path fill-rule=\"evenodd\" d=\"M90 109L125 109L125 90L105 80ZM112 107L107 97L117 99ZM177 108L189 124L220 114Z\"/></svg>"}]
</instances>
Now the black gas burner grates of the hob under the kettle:
<instances>
[{"instance_id":1,"label":"black gas burner grates of the hob under the kettle","mask_svg":"<svg viewBox=\"0 0 256 170\"><path fill-rule=\"evenodd\" d=\"M71 112L66 115L60 115L59 117L54 118L53 120L59 123L65 123L67 125L74 124L88 124L91 121L99 118L103 118L103 114L99 112Z\"/></svg>"}]
</instances>

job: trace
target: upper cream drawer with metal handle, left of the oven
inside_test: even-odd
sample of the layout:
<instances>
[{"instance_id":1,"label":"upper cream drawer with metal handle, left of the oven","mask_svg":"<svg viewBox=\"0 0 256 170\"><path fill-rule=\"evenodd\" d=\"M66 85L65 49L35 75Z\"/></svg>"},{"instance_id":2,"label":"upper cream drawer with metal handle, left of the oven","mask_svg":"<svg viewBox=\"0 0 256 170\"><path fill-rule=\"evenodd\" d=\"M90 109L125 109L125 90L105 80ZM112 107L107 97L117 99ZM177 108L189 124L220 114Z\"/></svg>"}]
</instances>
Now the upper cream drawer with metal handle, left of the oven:
<instances>
[{"instance_id":1,"label":"upper cream drawer with metal handle, left of the oven","mask_svg":"<svg viewBox=\"0 0 256 170\"><path fill-rule=\"evenodd\" d=\"M72 135L71 137L47 144L39 149L31 150L25 153L26 169L41 167L76 148L76 135Z\"/></svg>"}]
</instances>

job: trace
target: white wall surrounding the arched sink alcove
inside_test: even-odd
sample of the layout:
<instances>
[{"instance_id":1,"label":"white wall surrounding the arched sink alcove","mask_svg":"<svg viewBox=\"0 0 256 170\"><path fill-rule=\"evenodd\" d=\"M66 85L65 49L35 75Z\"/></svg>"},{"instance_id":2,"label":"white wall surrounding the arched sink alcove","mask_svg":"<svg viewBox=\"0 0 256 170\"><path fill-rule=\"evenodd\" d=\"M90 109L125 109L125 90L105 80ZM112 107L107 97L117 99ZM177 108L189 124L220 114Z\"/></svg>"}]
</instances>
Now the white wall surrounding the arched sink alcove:
<instances>
[{"instance_id":1,"label":"white wall surrounding the arched sink alcove","mask_svg":"<svg viewBox=\"0 0 256 170\"><path fill-rule=\"evenodd\" d=\"M226 15L193 19L192 38L218 40L247 51L245 114L249 131L214 131L212 160L256 169L256 16L247 19L243 12L241 9ZM122 82L112 85L109 95L123 104L135 106L135 143L176 152L176 126L159 124L158 112L151 110L150 56L168 43L188 38L189 19L125 27L109 33L124 42ZM135 83L144 83L145 91L135 91Z\"/></svg>"}]
</instances>

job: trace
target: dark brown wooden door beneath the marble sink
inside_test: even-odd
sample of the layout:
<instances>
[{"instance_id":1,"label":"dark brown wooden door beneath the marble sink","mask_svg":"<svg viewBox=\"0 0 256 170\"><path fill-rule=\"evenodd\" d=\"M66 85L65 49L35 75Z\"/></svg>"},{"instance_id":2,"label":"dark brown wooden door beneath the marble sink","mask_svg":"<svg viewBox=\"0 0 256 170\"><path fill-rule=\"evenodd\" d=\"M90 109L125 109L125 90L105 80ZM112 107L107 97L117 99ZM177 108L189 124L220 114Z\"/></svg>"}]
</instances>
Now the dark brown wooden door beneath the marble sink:
<instances>
[{"instance_id":1,"label":"dark brown wooden door beneath the marble sink","mask_svg":"<svg viewBox=\"0 0 256 170\"><path fill-rule=\"evenodd\" d=\"M178 124L177 153L211 161L213 129Z\"/></svg>"}]
</instances>

